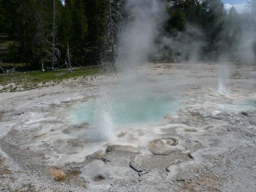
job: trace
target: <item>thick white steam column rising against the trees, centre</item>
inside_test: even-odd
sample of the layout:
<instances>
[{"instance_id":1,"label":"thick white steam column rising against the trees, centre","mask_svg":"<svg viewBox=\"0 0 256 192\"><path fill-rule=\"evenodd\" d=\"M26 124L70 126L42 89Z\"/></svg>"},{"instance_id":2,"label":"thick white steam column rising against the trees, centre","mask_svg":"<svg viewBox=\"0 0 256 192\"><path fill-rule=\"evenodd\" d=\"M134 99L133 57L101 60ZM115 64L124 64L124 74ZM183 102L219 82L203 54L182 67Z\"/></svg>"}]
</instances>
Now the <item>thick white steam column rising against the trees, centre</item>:
<instances>
[{"instance_id":1,"label":"thick white steam column rising against the trees, centre","mask_svg":"<svg viewBox=\"0 0 256 192\"><path fill-rule=\"evenodd\" d=\"M120 35L117 64L126 68L145 61L154 52L154 39L167 19L167 12L161 0L128 0L125 9L130 10L132 21Z\"/></svg>"}]
</instances>

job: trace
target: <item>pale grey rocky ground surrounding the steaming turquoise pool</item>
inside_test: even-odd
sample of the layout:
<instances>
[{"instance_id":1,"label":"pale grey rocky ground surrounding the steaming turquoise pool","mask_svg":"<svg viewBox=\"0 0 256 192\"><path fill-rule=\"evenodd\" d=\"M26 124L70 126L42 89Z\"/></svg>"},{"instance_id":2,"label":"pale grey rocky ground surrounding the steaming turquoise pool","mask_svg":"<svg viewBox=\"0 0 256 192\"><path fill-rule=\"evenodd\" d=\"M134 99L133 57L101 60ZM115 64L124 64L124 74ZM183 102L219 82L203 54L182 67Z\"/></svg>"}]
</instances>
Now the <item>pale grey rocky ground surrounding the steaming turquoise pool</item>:
<instances>
[{"instance_id":1,"label":"pale grey rocky ground surrounding the steaming turquoise pool","mask_svg":"<svg viewBox=\"0 0 256 192\"><path fill-rule=\"evenodd\" d=\"M183 102L158 125L100 143L83 136L88 123L67 120L69 110L112 90L121 74L0 93L0 190L256 191L256 67L158 63L133 73Z\"/></svg>"}]
</instances>

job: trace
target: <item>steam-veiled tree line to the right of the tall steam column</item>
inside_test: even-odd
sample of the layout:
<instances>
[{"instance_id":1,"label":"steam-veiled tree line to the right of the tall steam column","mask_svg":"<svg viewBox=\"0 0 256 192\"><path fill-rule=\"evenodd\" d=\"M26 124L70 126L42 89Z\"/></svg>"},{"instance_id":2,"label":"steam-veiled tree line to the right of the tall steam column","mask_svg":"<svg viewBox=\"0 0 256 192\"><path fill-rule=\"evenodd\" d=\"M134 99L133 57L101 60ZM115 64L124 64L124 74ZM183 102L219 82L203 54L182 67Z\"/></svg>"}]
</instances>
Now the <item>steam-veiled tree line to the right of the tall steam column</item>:
<instances>
[{"instance_id":1,"label":"steam-veiled tree line to the right of the tall steam column","mask_svg":"<svg viewBox=\"0 0 256 192\"><path fill-rule=\"evenodd\" d=\"M234 7L227 12L221 0L168 2L165 31L174 39L169 49L176 58L190 60L196 55L196 59L205 60L255 61L256 0L248 0L250 11L243 13Z\"/></svg>"}]
</instances>

